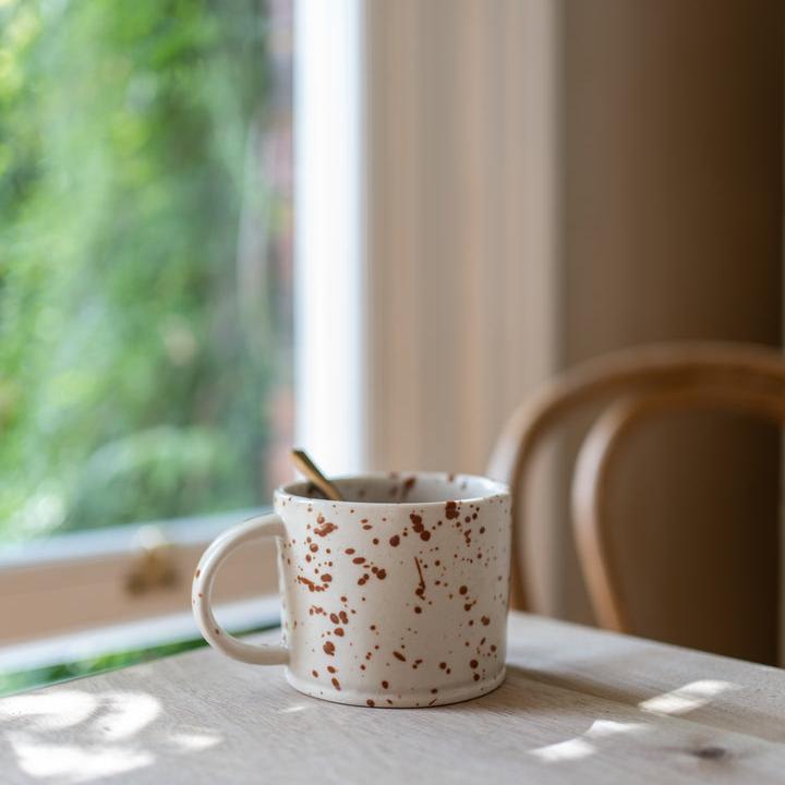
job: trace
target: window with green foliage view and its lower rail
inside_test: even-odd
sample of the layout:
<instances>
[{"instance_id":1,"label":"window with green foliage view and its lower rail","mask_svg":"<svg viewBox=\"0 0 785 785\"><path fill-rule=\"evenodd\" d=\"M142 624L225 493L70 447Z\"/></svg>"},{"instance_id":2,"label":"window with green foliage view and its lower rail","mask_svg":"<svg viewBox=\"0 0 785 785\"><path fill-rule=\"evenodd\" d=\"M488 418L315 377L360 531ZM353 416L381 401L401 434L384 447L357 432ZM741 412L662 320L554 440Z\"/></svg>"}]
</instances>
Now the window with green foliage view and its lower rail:
<instances>
[{"instance_id":1,"label":"window with green foliage view and its lower rail","mask_svg":"<svg viewBox=\"0 0 785 785\"><path fill-rule=\"evenodd\" d=\"M0 2L7 641L183 608L289 475L291 73L291 0Z\"/></svg>"}]
</instances>

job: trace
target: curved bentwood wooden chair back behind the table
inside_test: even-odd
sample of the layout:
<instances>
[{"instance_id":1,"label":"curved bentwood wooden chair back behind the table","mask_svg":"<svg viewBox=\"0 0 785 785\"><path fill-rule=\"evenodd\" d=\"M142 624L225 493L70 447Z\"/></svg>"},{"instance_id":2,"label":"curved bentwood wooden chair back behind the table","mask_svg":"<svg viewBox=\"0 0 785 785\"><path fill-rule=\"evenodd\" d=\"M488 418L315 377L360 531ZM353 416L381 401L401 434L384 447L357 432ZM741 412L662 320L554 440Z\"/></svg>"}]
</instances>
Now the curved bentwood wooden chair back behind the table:
<instances>
[{"instance_id":1,"label":"curved bentwood wooden chair back behind the table","mask_svg":"<svg viewBox=\"0 0 785 785\"><path fill-rule=\"evenodd\" d=\"M539 448L575 414L603 412L581 446L572 482L576 545L601 626L630 631L618 571L608 547L608 487L625 437L666 412L722 409L785 423L785 360L780 352L740 343L672 343L625 349L585 362L547 384L512 414L488 466L512 488L512 602L534 612L527 554L527 481ZM602 407L604 408L604 411Z\"/></svg>"}]
</instances>

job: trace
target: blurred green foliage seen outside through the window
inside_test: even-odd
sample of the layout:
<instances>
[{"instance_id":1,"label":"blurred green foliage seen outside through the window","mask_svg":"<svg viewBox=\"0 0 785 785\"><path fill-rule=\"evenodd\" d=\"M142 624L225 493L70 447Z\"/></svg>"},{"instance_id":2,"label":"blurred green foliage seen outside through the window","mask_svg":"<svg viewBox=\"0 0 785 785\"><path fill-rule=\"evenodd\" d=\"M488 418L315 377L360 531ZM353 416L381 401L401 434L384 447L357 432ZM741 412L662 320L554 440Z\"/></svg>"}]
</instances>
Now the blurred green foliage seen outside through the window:
<instances>
[{"instance_id":1,"label":"blurred green foliage seen outside through the window","mask_svg":"<svg viewBox=\"0 0 785 785\"><path fill-rule=\"evenodd\" d=\"M270 212L245 185L264 19L0 0L0 540L259 500L277 337L238 231Z\"/></svg>"}]
</instances>

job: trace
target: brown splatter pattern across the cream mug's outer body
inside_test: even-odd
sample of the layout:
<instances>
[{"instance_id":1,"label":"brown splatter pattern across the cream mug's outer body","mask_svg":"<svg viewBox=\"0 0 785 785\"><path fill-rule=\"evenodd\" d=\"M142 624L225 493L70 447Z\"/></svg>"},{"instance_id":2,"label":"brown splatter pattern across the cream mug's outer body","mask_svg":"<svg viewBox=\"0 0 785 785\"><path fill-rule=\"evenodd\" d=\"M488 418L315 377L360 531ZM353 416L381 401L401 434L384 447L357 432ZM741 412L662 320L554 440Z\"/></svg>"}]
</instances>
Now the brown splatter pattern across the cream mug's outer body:
<instances>
[{"instance_id":1,"label":"brown splatter pattern across the cream mug's outer body","mask_svg":"<svg viewBox=\"0 0 785 785\"><path fill-rule=\"evenodd\" d=\"M413 496L416 487L416 478L399 479L394 496ZM509 553L496 536L500 511L488 509L492 504L448 500L438 510L410 505L400 515L390 505L376 512L319 502L317 509L309 508L302 528L289 529L294 536L282 543L281 564L285 576L293 573L295 593L286 611L291 615L286 635L290 644L313 639L305 673L321 685L316 695L359 693L367 706L432 705L449 702L461 685L478 684L482 690L480 681L496 677L504 665ZM401 582L408 583L404 592ZM381 588L386 584L390 594ZM316 592L322 605L302 604L303 593ZM390 627L388 619L397 617L387 612L396 601L403 603L409 620ZM433 626L438 629L449 618L457 626L434 639ZM327 678L319 679L325 671ZM395 691L387 676L394 677ZM412 702L413 689L426 695Z\"/></svg>"}]
</instances>

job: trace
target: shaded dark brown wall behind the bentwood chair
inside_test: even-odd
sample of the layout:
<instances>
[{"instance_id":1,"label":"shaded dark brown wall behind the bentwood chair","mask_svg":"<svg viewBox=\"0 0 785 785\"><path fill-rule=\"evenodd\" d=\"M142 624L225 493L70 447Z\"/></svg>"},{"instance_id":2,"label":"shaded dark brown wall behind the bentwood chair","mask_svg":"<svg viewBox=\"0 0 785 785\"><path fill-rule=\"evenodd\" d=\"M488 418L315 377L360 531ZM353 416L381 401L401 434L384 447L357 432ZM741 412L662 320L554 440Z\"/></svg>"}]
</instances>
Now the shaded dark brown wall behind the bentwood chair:
<instances>
[{"instance_id":1,"label":"shaded dark brown wall behind the bentwood chair","mask_svg":"<svg viewBox=\"0 0 785 785\"><path fill-rule=\"evenodd\" d=\"M575 0L561 22L560 363L781 345L783 4ZM777 449L708 415L631 445L616 526L641 633L774 660ZM575 568L560 592L587 618Z\"/></svg>"}]
</instances>

